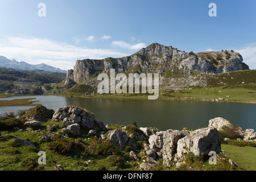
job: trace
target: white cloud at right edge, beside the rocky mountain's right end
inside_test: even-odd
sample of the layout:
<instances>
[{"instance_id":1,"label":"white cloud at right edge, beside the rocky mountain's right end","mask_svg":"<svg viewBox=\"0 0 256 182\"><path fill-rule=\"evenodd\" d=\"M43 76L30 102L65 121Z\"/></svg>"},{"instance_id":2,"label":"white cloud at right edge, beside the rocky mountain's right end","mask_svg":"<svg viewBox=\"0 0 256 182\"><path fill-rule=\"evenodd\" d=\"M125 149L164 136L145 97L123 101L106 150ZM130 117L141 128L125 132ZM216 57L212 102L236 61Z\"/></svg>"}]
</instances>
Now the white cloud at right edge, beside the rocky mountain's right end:
<instances>
[{"instance_id":1,"label":"white cloud at right edge, beside the rocky mountain's right end","mask_svg":"<svg viewBox=\"0 0 256 182\"><path fill-rule=\"evenodd\" d=\"M234 51L242 55L243 62L249 65L250 69L256 69L256 44L250 44L241 49L234 49Z\"/></svg>"}]
</instances>

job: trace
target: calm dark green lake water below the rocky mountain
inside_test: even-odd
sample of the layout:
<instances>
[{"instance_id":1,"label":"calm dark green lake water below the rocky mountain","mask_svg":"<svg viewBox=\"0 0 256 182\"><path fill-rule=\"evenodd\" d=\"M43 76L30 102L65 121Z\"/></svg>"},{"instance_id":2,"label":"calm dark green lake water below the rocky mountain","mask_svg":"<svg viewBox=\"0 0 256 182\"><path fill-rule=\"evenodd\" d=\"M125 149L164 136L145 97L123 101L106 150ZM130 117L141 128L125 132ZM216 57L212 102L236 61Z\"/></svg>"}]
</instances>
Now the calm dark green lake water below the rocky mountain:
<instances>
[{"instance_id":1,"label":"calm dark green lake water below the rocky mountain","mask_svg":"<svg viewBox=\"0 0 256 182\"><path fill-rule=\"evenodd\" d=\"M102 98L76 98L60 96L19 96L0 98L35 98L35 104L42 104L48 109L73 105L85 108L94 113L98 121L105 125L130 125L133 121L139 127L157 127L160 130L183 127L199 129L208 126L209 119L222 117L243 130L256 130L256 105L232 102L199 102L199 101L168 101L168 100L114 100ZM27 106L0 107L0 115Z\"/></svg>"}]
</instances>

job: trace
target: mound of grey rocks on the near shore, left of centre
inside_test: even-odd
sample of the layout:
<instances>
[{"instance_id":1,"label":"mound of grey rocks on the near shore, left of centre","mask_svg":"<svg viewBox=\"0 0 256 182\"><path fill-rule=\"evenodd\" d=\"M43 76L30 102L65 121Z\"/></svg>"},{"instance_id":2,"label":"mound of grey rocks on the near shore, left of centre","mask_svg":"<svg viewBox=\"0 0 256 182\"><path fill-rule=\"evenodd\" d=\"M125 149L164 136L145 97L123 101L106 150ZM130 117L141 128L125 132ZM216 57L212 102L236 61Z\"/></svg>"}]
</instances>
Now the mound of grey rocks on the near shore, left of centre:
<instances>
[{"instance_id":1,"label":"mound of grey rocks on the near shore, left of centre","mask_svg":"<svg viewBox=\"0 0 256 182\"><path fill-rule=\"evenodd\" d=\"M103 122L96 120L93 114L75 106L60 107L52 116L53 121L61 121L62 132L80 135L80 128L89 130L89 134L96 134L97 131L105 131Z\"/></svg>"}]
</instances>

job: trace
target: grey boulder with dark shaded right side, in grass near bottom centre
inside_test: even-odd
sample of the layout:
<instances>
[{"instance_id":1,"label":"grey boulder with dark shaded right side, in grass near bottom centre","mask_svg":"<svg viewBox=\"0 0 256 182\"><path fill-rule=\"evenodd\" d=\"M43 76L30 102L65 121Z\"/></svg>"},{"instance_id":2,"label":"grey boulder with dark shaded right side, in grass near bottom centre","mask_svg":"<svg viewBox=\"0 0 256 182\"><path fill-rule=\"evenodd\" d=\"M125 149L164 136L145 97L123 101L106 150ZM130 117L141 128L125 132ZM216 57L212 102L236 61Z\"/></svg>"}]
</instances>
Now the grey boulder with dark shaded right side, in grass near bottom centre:
<instances>
[{"instance_id":1,"label":"grey boulder with dark shaded right side, in grass near bottom centre","mask_svg":"<svg viewBox=\"0 0 256 182\"><path fill-rule=\"evenodd\" d=\"M108 139L112 140L114 144L118 144L118 147L122 150L125 147L125 143L128 140L125 131L115 129L109 132Z\"/></svg>"}]
</instances>

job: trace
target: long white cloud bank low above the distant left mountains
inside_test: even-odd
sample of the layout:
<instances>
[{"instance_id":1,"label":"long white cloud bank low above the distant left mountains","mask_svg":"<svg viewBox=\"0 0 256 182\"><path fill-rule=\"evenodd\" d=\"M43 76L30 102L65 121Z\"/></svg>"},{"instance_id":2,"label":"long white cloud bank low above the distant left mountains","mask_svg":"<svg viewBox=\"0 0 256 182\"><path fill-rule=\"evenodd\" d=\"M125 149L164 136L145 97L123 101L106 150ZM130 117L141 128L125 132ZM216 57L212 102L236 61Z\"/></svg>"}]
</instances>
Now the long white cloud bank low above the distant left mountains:
<instances>
[{"instance_id":1,"label":"long white cloud bank low above the distant left mountains","mask_svg":"<svg viewBox=\"0 0 256 182\"><path fill-rule=\"evenodd\" d=\"M49 39L18 37L0 40L0 55L30 64L48 63L65 70L72 69L78 59L128 56L112 49L90 49Z\"/></svg>"}]
</instances>

